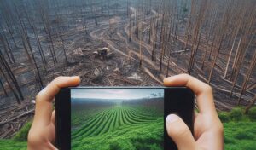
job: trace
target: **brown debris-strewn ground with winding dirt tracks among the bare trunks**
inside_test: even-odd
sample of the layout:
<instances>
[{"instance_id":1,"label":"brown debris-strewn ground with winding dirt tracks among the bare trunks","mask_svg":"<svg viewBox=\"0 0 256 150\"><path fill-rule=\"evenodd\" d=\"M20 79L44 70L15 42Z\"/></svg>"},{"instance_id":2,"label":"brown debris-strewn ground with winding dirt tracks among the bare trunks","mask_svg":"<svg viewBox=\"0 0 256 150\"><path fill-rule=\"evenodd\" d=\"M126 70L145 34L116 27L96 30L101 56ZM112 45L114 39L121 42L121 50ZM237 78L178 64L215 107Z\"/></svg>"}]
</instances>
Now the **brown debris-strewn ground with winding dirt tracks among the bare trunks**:
<instances>
[{"instance_id":1,"label":"brown debris-strewn ground with winding dirt tracks among the bare trunks","mask_svg":"<svg viewBox=\"0 0 256 150\"><path fill-rule=\"evenodd\" d=\"M135 8L131 8L131 16L135 16ZM147 22L151 17L157 15L152 10L151 15L146 15L143 29L148 28ZM44 55L48 60L47 68L44 70L39 65L40 75L43 78L44 86L58 76L79 75L82 79L81 85L84 86L161 86L162 79L166 77L167 57L163 61L163 70L160 67L160 49L156 49L156 60L151 61L152 45L148 44L147 32L143 32L142 51L143 65L139 66L139 48L140 41L136 38L135 26L131 28L131 42L128 40L129 35L129 18L122 8L119 10L118 16L97 18L98 25L95 20L87 21L87 31L83 31L80 24L65 26L67 31L64 32L64 47L67 50L67 60L64 59L64 52L59 38L54 38L55 51L58 63L54 66L53 60L49 53L47 36L40 37L44 49ZM109 22L111 26L109 26ZM181 31L183 29L180 29ZM32 41L35 39L32 37ZM20 41L21 43L21 41ZM18 43L18 45L20 45ZM190 50L181 51L184 44L184 38L178 37L172 46L173 55L171 57L171 67L169 68L169 76L184 73L189 64ZM108 47L110 53L108 57L96 57L94 52L96 49ZM37 49L33 45L33 49ZM212 77L212 88L214 92L214 101L218 110L230 110L236 105L237 96L239 95L240 86L244 78L244 72L247 72L248 64L244 65L238 79L238 86L234 91L234 95L230 98L231 83L229 80L221 78L224 73L225 59L227 58L225 50L219 55L218 66ZM202 49L199 49L193 72L196 78L206 81L210 72L212 59L207 61L206 67L201 70ZM36 60L38 64L42 64L38 52L36 52ZM10 92L9 96L4 95L0 90L0 138L9 138L15 135L15 132L29 119L32 118L35 95L40 90L37 78L35 78L34 67L26 60L26 56L22 49L16 49L15 58L18 63L12 64L12 71L18 80L25 100L21 105L15 101L14 95ZM250 84L255 84L256 72L253 72L253 78ZM6 85L6 84L5 84ZM246 105L251 101L256 89L248 90L243 96L242 104Z\"/></svg>"}]
</instances>

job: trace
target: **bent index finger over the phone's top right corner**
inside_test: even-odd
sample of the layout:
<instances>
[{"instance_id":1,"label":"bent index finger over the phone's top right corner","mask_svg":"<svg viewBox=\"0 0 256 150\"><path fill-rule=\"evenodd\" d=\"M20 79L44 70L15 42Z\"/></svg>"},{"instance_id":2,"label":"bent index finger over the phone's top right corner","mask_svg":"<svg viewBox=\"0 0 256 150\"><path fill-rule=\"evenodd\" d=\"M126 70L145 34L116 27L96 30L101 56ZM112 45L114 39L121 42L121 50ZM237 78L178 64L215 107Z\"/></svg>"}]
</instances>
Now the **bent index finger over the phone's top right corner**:
<instances>
[{"instance_id":1,"label":"bent index finger over the phone's top right corner","mask_svg":"<svg viewBox=\"0 0 256 150\"><path fill-rule=\"evenodd\" d=\"M216 113L213 102L212 88L208 84L189 76L180 74L164 79L166 86L186 86L192 89L196 95L197 105L200 113Z\"/></svg>"}]
</instances>

